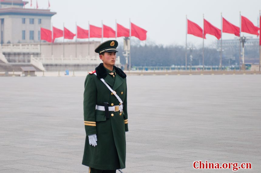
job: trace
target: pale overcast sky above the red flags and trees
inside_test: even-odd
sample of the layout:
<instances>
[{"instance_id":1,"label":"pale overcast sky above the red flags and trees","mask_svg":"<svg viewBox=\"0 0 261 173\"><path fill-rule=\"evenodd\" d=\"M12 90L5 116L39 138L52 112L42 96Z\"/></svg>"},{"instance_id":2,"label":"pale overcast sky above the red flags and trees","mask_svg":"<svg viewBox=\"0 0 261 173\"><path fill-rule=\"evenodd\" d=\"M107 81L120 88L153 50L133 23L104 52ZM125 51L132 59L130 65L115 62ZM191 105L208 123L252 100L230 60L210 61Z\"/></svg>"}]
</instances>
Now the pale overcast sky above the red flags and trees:
<instances>
[{"instance_id":1,"label":"pale overcast sky above the red flags and trees","mask_svg":"<svg viewBox=\"0 0 261 173\"><path fill-rule=\"evenodd\" d=\"M28 1L28 0L27 0ZM57 12L52 17L53 26L65 27L75 32L75 22L82 28L91 25L108 25L115 29L115 20L129 28L129 20L147 30L147 41L162 45L185 45L186 15L203 28L203 14L208 22L221 28L221 12L225 19L239 26L239 12L258 26L261 0L49 0L50 9ZM36 0L32 0L33 8ZM30 4L30 3L29 3ZM30 8L27 4L26 8ZM39 8L46 9L48 0L38 0ZM253 36L244 33L245 36ZM207 35L205 44L210 46L216 38ZM223 39L235 38L223 33ZM92 38L93 39L93 38ZM118 39L118 38L117 38ZM101 40L101 39L95 39ZM105 39L104 39L105 40ZM104 41L103 40L103 41ZM119 38L120 40L120 38ZM145 41L143 41L144 43ZM188 43L202 44L202 38L188 35Z\"/></svg>"}]
</instances>

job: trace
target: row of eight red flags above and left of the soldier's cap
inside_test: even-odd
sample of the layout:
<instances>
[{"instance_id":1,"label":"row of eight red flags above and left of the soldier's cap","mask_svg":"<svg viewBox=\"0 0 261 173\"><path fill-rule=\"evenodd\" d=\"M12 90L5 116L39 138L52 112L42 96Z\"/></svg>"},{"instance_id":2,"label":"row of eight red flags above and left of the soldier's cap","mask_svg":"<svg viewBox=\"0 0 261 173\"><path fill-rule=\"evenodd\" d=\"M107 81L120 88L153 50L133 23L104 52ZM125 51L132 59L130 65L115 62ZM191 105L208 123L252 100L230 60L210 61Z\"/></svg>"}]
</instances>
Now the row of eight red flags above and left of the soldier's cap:
<instances>
[{"instance_id":1,"label":"row of eight red flags above and left of the soldier's cap","mask_svg":"<svg viewBox=\"0 0 261 173\"><path fill-rule=\"evenodd\" d=\"M103 35L102 28L94 25L89 25L89 30L83 29L77 26L77 38L115 38L115 37L129 37L130 29L117 24L117 35L116 32L109 26L103 25ZM90 33L89 33L90 31ZM137 37L140 40L146 40L147 31L137 25L131 23L131 36ZM63 30L53 27L53 42L55 38L64 37L65 39L73 39L76 34L69 31L67 28ZM52 42L52 31L49 29L41 28L41 40L46 40L47 42Z\"/></svg>"}]
</instances>

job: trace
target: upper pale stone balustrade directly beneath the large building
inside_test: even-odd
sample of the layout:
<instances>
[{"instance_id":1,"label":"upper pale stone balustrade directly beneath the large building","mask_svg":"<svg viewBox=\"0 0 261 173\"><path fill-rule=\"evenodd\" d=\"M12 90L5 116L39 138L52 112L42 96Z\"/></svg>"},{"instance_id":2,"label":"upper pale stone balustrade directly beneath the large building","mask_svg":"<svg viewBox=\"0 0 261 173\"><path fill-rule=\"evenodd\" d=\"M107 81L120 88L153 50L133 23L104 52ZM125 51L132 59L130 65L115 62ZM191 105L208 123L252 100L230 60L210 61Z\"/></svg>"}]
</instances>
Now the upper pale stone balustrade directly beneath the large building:
<instances>
[{"instance_id":1,"label":"upper pale stone balustrade directly beneath the large building","mask_svg":"<svg viewBox=\"0 0 261 173\"><path fill-rule=\"evenodd\" d=\"M40 53L40 45L3 45L2 52L25 52L25 53Z\"/></svg>"}]
</instances>

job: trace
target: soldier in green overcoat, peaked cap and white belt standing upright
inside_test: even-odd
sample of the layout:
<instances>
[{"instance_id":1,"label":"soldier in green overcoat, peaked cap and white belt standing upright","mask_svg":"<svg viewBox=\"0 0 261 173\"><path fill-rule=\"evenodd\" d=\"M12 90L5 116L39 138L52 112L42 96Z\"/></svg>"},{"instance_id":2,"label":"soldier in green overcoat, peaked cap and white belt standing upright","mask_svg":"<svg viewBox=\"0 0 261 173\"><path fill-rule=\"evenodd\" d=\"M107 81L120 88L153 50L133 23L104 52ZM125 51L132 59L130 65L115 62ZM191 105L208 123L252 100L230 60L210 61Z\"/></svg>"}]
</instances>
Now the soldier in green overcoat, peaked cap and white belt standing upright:
<instances>
[{"instance_id":1,"label":"soldier in green overcoat, peaked cap and white belt standing upright","mask_svg":"<svg viewBox=\"0 0 261 173\"><path fill-rule=\"evenodd\" d=\"M84 82L86 131L83 165L89 173L114 173L125 168L128 131L126 74L115 65L118 42L101 43L95 52L103 61Z\"/></svg>"}]
</instances>

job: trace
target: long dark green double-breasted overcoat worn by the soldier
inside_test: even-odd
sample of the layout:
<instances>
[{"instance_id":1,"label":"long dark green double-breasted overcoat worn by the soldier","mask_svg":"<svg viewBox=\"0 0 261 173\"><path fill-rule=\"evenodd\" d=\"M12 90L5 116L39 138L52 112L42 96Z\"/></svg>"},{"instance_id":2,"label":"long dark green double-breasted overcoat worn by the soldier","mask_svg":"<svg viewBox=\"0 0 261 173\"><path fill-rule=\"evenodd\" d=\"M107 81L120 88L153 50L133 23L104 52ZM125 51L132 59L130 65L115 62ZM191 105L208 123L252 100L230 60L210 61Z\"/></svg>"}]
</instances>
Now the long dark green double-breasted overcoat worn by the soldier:
<instances>
[{"instance_id":1,"label":"long dark green double-breasted overcoat worn by the soldier","mask_svg":"<svg viewBox=\"0 0 261 173\"><path fill-rule=\"evenodd\" d=\"M101 170L116 170L125 168L126 140L125 131L128 131L127 114L127 85L126 74L114 66L115 81L108 75L101 63L95 71L90 72L84 82L83 111L86 131L83 165ZM96 72L97 75L93 74ZM96 105L119 105L118 99L100 80L103 78L116 91L123 101L123 112L109 111L106 119L105 111L96 110ZM88 135L97 134L97 146L89 144Z\"/></svg>"}]
</instances>

